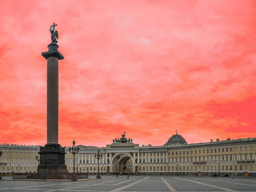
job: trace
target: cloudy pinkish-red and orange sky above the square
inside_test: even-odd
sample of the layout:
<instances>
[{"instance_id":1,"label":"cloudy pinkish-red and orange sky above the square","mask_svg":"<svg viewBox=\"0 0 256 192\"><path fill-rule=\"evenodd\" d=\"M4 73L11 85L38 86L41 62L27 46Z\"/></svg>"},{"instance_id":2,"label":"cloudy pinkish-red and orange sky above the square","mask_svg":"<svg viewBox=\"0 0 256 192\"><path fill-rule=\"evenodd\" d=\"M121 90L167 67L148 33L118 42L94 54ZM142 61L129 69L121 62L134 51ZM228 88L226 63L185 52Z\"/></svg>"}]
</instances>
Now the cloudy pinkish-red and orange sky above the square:
<instances>
[{"instance_id":1,"label":"cloudy pinkish-red and orange sky above the square","mask_svg":"<svg viewBox=\"0 0 256 192\"><path fill-rule=\"evenodd\" d=\"M59 143L256 137L256 1L0 0L0 142L46 143L50 26Z\"/></svg>"}]
</instances>

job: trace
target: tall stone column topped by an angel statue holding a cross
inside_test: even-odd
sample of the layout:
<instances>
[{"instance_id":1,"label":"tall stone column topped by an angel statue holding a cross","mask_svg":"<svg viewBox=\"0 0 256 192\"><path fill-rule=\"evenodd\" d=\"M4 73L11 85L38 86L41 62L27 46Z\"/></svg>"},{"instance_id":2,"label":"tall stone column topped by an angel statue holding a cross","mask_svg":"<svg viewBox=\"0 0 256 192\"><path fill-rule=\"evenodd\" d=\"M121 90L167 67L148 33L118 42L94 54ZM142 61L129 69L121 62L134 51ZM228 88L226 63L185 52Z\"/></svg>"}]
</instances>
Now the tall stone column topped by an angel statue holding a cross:
<instances>
[{"instance_id":1,"label":"tall stone column topped by an angel statue holding a cross","mask_svg":"<svg viewBox=\"0 0 256 192\"><path fill-rule=\"evenodd\" d=\"M58 51L58 31L55 23L50 28L52 43L42 56L47 60L47 143L40 147L40 164L37 173L67 174L65 148L58 143L59 135L59 60L64 59Z\"/></svg>"}]
</instances>

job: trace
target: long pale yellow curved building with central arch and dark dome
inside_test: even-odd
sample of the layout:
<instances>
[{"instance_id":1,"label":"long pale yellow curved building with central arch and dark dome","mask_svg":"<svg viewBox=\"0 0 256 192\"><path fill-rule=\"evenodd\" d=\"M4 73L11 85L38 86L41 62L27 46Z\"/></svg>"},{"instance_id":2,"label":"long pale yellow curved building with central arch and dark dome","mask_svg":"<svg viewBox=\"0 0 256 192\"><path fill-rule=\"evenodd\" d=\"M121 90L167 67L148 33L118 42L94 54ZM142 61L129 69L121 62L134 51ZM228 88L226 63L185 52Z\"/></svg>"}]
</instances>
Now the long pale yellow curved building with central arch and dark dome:
<instances>
[{"instance_id":1,"label":"long pale yellow curved building with central arch and dark dome","mask_svg":"<svg viewBox=\"0 0 256 192\"><path fill-rule=\"evenodd\" d=\"M40 146L2 144L0 171L11 174L36 171ZM102 159L99 172L105 174L145 175L205 175L256 176L256 138L191 143L177 133L163 146L139 146L132 139L112 140L104 148L79 145L75 155L75 170L97 175L98 162L95 154L100 150ZM66 147L67 171L73 171L74 157ZM38 158L40 159L40 157Z\"/></svg>"}]
</instances>

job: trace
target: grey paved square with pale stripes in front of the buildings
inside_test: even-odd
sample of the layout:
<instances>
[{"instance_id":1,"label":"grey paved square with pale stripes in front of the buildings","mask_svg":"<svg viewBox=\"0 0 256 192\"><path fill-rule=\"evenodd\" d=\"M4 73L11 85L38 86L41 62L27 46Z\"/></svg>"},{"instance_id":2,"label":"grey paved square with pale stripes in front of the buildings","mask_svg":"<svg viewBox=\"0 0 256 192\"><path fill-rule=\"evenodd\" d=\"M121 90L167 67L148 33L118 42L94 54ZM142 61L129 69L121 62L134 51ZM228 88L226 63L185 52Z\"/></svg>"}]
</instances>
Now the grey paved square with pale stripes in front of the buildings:
<instances>
[{"instance_id":1,"label":"grey paved square with pale stripes in front of the buildings","mask_svg":"<svg viewBox=\"0 0 256 192\"><path fill-rule=\"evenodd\" d=\"M0 180L0 192L256 191L255 177L103 176L86 181Z\"/></svg>"}]
</instances>

